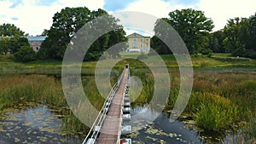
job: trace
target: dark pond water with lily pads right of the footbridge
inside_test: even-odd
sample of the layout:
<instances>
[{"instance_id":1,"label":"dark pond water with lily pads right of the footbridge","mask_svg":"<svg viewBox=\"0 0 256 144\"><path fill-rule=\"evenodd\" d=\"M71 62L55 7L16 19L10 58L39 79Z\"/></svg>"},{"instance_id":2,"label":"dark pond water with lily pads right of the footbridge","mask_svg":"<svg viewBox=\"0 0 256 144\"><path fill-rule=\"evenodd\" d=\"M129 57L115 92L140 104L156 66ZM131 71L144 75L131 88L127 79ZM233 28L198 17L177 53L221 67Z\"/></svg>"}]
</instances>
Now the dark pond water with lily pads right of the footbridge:
<instances>
[{"instance_id":1,"label":"dark pond water with lily pads right of the footbridge","mask_svg":"<svg viewBox=\"0 0 256 144\"><path fill-rule=\"evenodd\" d=\"M132 119L139 112L146 111L141 119ZM148 122L148 117L155 117L153 122ZM144 119L143 119L144 118ZM149 107L135 107L131 111L131 124L133 133L126 135L131 137L133 143L239 143L240 136L232 133L217 133L201 130L196 127L190 117L181 116L171 122L170 115L166 112L157 113Z\"/></svg>"}]
</instances>

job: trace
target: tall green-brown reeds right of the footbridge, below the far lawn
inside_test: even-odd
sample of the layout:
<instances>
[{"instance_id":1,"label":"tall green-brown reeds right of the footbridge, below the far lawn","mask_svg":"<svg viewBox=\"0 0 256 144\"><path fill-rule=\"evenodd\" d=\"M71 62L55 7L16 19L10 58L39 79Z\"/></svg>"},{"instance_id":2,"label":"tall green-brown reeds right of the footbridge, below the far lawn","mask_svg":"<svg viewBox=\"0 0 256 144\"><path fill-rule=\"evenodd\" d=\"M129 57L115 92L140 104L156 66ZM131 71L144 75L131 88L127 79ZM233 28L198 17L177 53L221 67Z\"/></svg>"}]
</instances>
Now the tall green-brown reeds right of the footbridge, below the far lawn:
<instances>
[{"instance_id":1,"label":"tall green-brown reeds right of the footbridge, below the far lawn","mask_svg":"<svg viewBox=\"0 0 256 144\"><path fill-rule=\"evenodd\" d=\"M147 69L135 69L131 74L143 82L142 92L133 103L148 104L154 93L152 74ZM172 88L166 112L172 110L180 89L179 72L170 71L170 75ZM192 94L184 112L194 116L196 124L205 130L233 130L240 122L250 123L256 117L255 103L256 75L195 72Z\"/></svg>"}]
</instances>

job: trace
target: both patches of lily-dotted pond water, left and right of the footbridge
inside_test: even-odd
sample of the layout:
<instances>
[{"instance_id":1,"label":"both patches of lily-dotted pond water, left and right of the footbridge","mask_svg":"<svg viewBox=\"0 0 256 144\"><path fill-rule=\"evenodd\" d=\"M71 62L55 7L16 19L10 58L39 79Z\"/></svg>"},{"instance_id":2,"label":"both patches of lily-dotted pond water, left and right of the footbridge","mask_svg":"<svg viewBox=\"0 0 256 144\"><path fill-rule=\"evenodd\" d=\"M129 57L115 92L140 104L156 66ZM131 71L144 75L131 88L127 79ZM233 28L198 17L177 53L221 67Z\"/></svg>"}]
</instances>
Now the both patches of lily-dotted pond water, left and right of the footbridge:
<instances>
[{"instance_id":1,"label":"both patches of lily-dotted pond water, left and right of the footbridge","mask_svg":"<svg viewBox=\"0 0 256 144\"><path fill-rule=\"evenodd\" d=\"M20 104L21 105L21 104ZM79 144L83 138L79 135L64 135L61 132L61 118L46 106L7 108L0 121L0 144L45 143ZM133 119L139 112L146 117ZM153 122L148 118L158 116ZM182 116L171 122L166 112L157 113L149 107L135 107L131 111L133 143L238 143L239 136L230 133L207 132L195 126L192 118ZM144 118L144 119L143 119Z\"/></svg>"}]
</instances>

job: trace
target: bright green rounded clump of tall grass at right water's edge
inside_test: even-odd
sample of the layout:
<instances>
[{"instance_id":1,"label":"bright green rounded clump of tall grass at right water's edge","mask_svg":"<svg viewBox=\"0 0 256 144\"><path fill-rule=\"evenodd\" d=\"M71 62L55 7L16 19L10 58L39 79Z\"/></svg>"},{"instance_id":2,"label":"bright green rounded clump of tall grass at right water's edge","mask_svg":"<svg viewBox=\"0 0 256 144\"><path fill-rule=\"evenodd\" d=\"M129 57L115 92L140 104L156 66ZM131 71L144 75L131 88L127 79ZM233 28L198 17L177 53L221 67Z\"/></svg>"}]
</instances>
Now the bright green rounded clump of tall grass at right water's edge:
<instances>
[{"instance_id":1,"label":"bright green rounded clump of tall grass at right water's edge","mask_svg":"<svg viewBox=\"0 0 256 144\"><path fill-rule=\"evenodd\" d=\"M195 121L202 128L226 130L236 120L239 120L237 107L229 99L211 94L203 94L198 97L203 100L195 113Z\"/></svg>"}]
</instances>

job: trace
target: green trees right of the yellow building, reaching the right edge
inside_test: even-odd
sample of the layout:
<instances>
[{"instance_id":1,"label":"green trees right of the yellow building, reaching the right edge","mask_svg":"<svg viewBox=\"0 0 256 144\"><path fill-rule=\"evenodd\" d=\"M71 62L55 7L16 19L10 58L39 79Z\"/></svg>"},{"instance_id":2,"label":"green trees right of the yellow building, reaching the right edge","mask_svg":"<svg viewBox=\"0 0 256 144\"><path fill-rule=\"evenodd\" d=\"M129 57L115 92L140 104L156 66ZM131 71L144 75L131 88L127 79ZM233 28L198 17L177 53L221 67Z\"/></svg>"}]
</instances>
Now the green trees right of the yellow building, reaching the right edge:
<instances>
[{"instance_id":1,"label":"green trees right of the yellow building, reaching the right edge","mask_svg":"<svg viewBox=\"0 0 256 144\"><path fill-rule=\"evenodd\" d=\"M190 55L231 53L256 59L256 14L249 18L234 18L227 21L223 29L212 32L213 22L204 12L195 9L175 10L167 18L157 20L151 47L159 54L172 54L172 51L157 35L166 34L163 22L170 24L183 38ZM173 42L175 43L175 42Z\"/></svg>"}]
</instances>

